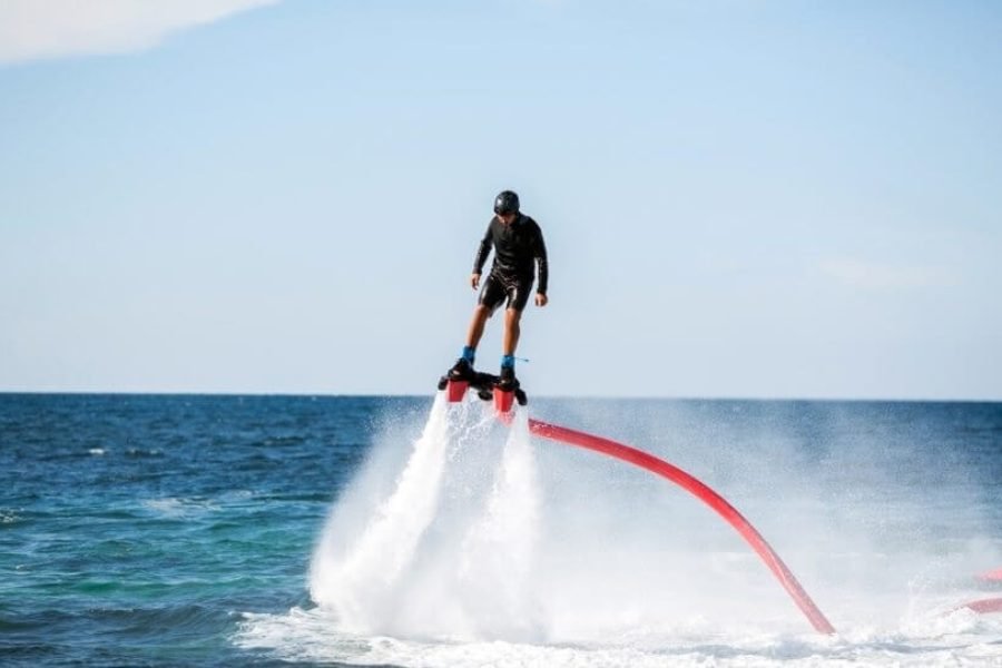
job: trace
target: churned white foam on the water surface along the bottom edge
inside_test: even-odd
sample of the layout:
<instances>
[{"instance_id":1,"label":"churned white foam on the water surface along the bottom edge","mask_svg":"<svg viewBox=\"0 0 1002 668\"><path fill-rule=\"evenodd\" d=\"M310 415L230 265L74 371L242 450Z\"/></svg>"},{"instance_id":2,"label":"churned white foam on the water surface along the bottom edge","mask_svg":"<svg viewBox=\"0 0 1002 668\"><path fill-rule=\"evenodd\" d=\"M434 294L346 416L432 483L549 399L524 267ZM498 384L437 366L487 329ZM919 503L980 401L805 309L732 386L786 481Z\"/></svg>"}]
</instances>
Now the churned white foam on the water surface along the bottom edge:
<instances>
[{"instance_id":1,"label":"churned white foam on the water surface along the bottom edge","mask_svg":"<svg viewBox=\"0 0 1002 668\"><path fill-rule=\"evenodd\" d=\"M245 649L267 651L275 659L345 662L406 668L706 667L816 668L819 666L932 667L999 666L1002 647L993 641L999 626L980 635L943 637L881 633L852 629L834 638L733 632L686 633L640 629L589 644L415 640L358 636L338 628L336 617L322 608L294 608L286 615L244 615L234 641ZM982 622L984 623L984 622ZM991 631L994 631L994 636Z\"/></svg>"}]
</instances>

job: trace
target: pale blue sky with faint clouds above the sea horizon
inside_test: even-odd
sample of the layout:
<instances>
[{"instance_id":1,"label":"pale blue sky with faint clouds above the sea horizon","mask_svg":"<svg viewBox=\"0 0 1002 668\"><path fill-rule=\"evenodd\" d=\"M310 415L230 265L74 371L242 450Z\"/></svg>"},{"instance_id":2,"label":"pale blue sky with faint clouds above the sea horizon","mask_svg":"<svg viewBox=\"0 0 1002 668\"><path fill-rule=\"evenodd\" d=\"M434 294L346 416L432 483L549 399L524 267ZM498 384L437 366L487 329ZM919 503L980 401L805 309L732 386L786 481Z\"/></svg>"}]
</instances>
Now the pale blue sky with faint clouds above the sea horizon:
<instances>
[{"instance_id":1,"label":"pale blue sky with faint clouds above the sea horizon","mask_svg":"<svg viewBox=\"0 0 1002 668\"><path fill-rule=\"evenodd\" d=\"M1002 400L1002 4L0 0L0 391ZM494 371L501 318L478 367Z\"/></svg>"}]
</instances>

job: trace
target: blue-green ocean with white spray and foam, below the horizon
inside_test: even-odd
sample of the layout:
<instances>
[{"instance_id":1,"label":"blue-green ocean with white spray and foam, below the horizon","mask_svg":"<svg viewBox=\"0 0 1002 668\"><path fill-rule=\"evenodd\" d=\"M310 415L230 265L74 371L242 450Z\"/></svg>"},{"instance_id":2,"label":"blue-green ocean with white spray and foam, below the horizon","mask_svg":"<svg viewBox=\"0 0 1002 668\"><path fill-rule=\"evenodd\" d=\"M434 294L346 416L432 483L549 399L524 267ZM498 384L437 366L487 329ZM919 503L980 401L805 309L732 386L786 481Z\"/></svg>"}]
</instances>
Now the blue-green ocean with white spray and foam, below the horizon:
<instances>
[{"instance_id":1,"label":"blue-green ocean with white spray and foam, below the horizon","mask_svg":"<svg viewBox=\"0 0 1002 668\"><path fill-rule=\"evenodd\" d=\"M1002 666L1002 404L530 399L0 394L0 665Z\"/></svg>"}]
</instances>

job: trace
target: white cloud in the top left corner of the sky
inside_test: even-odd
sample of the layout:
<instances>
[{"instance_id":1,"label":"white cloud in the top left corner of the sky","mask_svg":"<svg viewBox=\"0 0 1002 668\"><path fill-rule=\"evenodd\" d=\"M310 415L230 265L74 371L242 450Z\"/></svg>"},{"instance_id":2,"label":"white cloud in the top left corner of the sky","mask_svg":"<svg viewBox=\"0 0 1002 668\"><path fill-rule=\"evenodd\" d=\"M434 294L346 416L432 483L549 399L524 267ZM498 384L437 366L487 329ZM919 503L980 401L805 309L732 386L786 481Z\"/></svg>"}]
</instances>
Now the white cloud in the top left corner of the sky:
<instances>
[{"instance_id":1,"label":"white cloud in the top left corner of the sky","mask_svg":"<svg viewBox=\"0 0 1002 668\"><path fill-rule=\"evenodd\" d=\"M0 63L157 45L170 32L279 0L0 0Z\"/></svg>"}]
</instances>

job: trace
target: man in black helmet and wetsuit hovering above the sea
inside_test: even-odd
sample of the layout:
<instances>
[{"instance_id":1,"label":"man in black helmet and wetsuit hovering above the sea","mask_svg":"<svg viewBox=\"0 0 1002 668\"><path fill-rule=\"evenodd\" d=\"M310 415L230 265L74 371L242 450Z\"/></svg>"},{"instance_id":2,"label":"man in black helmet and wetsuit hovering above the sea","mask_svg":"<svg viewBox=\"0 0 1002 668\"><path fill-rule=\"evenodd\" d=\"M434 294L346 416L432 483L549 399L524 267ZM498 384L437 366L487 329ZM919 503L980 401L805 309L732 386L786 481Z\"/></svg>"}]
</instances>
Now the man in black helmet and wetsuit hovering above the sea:
<instances>
[{"instance_id":1,"label":"man in black helmet and wetsuit hovering above the sea","mask_svg":"<svg viewBox=\"0 0 1002 668\"><path fill-rule=\"evenodd\" d=\"M480 275L492 247L494 262L491 265L491 273L483 282L480 298L473 310L462 356L449 371L449 377L469 380L473 376L473 361L477 344L483 336L483 326L498 306L505 302L501 375L498 385L502 390L514 390L518 387L514 377L514 352L519 345L522 310L529 302L537 264L539 264L539 286L536 288L536 305L547 305L549 271L542 230L536 220L519 210L519 196L511 190L504 190L494 198L494 217L488 225L487 234L483 235L477 258L473 261L473 274L470 276L473 289L480 286Z\"/></svg>"}]
</instances>

